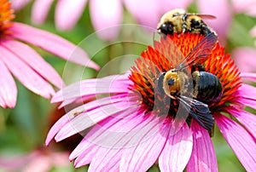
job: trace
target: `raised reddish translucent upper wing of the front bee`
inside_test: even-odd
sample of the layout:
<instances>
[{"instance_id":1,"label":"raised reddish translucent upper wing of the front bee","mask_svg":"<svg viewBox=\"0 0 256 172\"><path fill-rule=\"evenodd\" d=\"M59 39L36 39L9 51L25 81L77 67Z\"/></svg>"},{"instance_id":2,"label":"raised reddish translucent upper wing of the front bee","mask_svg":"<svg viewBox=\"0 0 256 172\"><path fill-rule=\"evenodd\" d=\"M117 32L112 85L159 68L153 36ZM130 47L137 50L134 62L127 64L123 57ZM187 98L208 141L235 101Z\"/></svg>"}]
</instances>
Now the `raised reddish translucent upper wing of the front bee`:
<instances>
[{"instance_id":1,"label":"raised reddish translucent upper wing of the front bee","mask_svg":"<svg viewBox=\"0 0 256 172\"><path fill-rule=\"evenodd\" d=\"M217 35L215 33L209 33L204 37L200 43L198 43L195 48L189 53L189 55L176 67L177 70L182 70L186 66L193 65L199 60L207 57L211 54L213 47L218 41Z\"/></svg>"}]
</instances>

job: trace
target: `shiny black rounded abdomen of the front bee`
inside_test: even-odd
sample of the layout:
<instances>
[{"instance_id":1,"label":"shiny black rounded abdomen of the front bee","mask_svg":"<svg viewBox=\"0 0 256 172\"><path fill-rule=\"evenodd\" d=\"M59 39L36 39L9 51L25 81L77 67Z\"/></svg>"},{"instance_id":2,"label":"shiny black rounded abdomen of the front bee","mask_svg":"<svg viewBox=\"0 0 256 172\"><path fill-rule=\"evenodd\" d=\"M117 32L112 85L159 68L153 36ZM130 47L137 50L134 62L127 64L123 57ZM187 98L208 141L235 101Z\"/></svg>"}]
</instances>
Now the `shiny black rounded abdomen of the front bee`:
<instances>
[{"instance_id":1,"label":"shiny black rounded abdomen of the front bee","mask_svg":"<svg viewBox=\"0 0 256 172\"><path fill-rule=\"evenodd\" d=\"M193 75L195 98L203 102L215 102L223 94L222 84L217 76L210 72L198 72Z\"/></svg>"}]
</instances>

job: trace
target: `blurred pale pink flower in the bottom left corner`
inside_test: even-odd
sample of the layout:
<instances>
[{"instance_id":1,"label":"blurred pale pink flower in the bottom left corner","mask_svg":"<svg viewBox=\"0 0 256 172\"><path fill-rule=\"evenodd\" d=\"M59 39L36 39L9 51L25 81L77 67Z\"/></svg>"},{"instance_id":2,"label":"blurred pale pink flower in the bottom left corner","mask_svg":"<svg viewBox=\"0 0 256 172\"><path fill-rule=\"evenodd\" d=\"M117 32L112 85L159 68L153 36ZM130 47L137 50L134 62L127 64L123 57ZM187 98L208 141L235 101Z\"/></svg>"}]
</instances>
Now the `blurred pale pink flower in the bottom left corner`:
<instances>
[{"instance_id":1,"label":"blurred pale pink flower in the bottom left corner","mask_svg":"<svg viewBox=\"0 0 256 172\"><path fill-rule=\"evenodd\" d=\"M0 157L0 169L7 171L46 172L69 165L68 152L36 150L27 155Z\"/></svg>"}]
</instances>

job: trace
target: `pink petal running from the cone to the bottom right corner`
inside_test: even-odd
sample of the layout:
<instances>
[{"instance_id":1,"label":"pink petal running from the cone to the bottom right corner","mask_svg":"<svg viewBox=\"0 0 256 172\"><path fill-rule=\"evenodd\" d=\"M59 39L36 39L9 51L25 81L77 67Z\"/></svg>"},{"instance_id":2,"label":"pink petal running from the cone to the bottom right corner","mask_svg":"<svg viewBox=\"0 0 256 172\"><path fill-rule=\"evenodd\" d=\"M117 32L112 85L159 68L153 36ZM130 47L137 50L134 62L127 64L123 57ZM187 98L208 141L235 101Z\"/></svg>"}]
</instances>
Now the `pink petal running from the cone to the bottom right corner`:
<instances>
[{"instance_id":1,"label":"pink petal running from the cone to the bottom right corner","mask_svg":"<svg viewBox=\"0 0 256 172\"><path fill-rule=\"evenodd\" d=\"M229 143L236 157L247 171L256 169L256 146L255 138L249 135L238 123L218 114L215 117L218 128L225 140Z\"/></svg>"}]
</instances>

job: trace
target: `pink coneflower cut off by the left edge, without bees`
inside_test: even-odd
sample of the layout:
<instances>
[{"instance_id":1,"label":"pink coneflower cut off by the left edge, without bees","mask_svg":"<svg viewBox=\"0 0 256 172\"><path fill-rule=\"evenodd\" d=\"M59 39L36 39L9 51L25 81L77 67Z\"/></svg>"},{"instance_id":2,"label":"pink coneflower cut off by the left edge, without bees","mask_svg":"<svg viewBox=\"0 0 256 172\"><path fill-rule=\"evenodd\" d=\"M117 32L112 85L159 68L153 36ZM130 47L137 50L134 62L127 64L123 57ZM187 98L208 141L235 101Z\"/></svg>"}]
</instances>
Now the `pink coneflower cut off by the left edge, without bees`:
<instances>
[{"instance_id":1,"label":"pink coneflower cut off by the left edge, without bees","mask_svg":"<svg viewBox=\"0 0 256 172\"><path fill-rule=\"evenodd\" d=\"M55 94L50 83L59 89L63 86L54 68L26 43L65 60L98 69L87 54L73 43L32 26L13 22L15 15L10 6L8 0L0 0L0 106L15 107L17 88L12 75L27 89L48 99Z\"/></svg>"}]
</instances>

